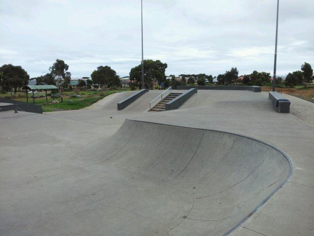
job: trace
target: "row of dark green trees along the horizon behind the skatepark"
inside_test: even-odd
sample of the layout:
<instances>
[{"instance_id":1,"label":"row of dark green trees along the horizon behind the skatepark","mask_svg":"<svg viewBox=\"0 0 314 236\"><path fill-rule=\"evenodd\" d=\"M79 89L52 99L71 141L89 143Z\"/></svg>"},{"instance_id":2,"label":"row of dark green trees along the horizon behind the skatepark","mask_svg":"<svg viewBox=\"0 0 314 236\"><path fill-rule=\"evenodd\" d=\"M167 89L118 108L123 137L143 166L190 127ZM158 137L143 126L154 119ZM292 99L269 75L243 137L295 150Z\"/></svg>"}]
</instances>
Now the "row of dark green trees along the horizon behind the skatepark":
<instances>
[{"instance_id":1,"label":"row of dark green trees along the horizon behind the skatepark","mask_svg":"<svg viewBox=\"0 0 314 236\"><path fill-rule=\"evenodd\" d=\"M148 89L153 89L155 84L164 85L165 87L172 86L176 88L178 85L194 84L206 85L206 82L212 83L212 75L206 74L181 74L181 80L177 80L174 75L171 75L172 79L166 79L166 69L167 63L163 63L160 60L144 60L144 87ZM49 73L36 78L37 85L56 85L59 90L64 90L69 87L71 81L71 73L68 71L69 65L63 60L56 59L52 66L49 68ZM138 87L141 89L142 82L142 66L141 64L135 66L130 70L130 87L134 89ZM295 71L289 73L285 78L285 84L287 86L293 87L296 85L303 84L304 87L307 86L313 80L313 70L311 65L307 62L301 65L300 71ZM17 92L18 88L28 84L29 75L28 73L19 65L4 64L0 67L0 86L2 90L9 91L14 89L14 93ZM257 72L253 71L249 75L244 75L239 78L239 71L236 67L232 67L229 71L224 74L219 74L217 76L218 84L220 85L234 85L234 84L244 84L244 85L257 85L262 86L271 81L270 73L267 72ZM283 81L283 78L278 78L276 83L279 84ZM78 86L88 86L92 85L96 88L107 90L109 87L116 86L120 87L121 82L116 71L110 68L110 66L98 66L91 74L91 80L78 81Z\"/></svg>"}]
</instances>

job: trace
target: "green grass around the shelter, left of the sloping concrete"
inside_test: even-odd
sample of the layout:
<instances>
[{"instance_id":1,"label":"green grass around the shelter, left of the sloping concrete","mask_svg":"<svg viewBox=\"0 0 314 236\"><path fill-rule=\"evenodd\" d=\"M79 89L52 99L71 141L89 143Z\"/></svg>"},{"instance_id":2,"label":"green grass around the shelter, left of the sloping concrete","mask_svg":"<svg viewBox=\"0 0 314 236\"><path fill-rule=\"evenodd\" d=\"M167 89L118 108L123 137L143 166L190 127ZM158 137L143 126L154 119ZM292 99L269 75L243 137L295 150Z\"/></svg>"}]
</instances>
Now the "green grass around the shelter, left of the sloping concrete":
<instances>
[{"instance_id":1,"label":"green grass around the shelter, left of the sloping concrete","mask_svg":"<svg viewBox=\"0 0 314 236\"><path fill-rule=\"evenodd\" d=\"M59 103L58 104L51 104L53 101L53 98L48 96L48 103L46 103L46 97L42 98L35 98L35 104L37 105L42 105L43 106L43 112L54 112L54 111L65 111L65 110L78 110L82 109L85 107L89 107L93 105L94 103L98 102L105 96L108 96L113 93L117 92L123 92L127 90L110 90L107 91L106 93L102 92L94 92L94 91L80 91L77 92L77 94L82 95L82 98L76 98L76 97L71 97L71 94L76 94L75 91L71 92L63 92L62 97L63 97L63 103L61 103L61 98L55 98ZM45 92L38 92L38 94L45 94ZM32 94L28 94L28 103L32 104L33 103L33 98L31 98ZM7 97L10 98L10 93L7 94L0 94L0 97ZM25 93L16 93L13 94L12 99L18 100L20 102L26 103L26 94Z\"/></svg>"}]
</instances>

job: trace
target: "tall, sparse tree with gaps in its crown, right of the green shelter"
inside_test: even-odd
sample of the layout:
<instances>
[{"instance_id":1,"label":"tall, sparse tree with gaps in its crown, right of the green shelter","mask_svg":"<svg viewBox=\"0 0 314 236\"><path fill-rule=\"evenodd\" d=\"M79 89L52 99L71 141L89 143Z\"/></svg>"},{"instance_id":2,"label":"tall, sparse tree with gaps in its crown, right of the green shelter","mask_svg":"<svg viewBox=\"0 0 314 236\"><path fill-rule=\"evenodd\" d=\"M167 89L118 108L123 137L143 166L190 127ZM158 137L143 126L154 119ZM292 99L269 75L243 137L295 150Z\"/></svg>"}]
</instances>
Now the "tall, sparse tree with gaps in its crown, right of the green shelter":
<instances>
[{"instance_id":1,"label":"tall, sparse tree with gaps in its crown, right of the green shelter","mask_svg":"<svg viewBox=\"0 0 314 236\"><path fill-rule=\"evenodd\" d=\"M68 85L71 81L71 73L68 72L69 66L60 59L57 59L55 63L49 68L49 71L56 81L57 86L61 84ZM65 84L64 84L65 83Z\"/></svg>"}]
</instances>

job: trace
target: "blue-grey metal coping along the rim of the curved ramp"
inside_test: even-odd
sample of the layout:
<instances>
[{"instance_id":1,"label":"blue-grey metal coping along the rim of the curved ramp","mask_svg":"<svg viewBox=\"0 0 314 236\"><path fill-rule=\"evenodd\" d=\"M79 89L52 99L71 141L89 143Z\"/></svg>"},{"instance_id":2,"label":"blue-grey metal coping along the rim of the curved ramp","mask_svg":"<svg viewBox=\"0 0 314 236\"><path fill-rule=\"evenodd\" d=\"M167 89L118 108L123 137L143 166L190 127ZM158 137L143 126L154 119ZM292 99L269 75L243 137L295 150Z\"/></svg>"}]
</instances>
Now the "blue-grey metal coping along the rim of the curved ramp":
<instances>
[{"instance_id":1,"label":"blue-grey metal coping along the rim of the curved ramp","mask_svg":"<svg viewBox=\"0 0 314 236\"><path fill-rule=\"evenodd\" d=\"M281 149L279 149L276 146L273 146L272 144L266 143L262 140L259 139L255 139L249 136L246 136L244 134L239 134L239 133L234 133L234 132L228 132L228 131L224 131L224 130L219 130L219 129L207 129L207 128L193 128L193 127L187 127L187 126L182 126L182 125L172 125L172 124L165 124L165 123L159 123L159 122L150 122L150 121L143 121L143 120L136 120L136 119L130 119L130 118L126 118L126 120L131 120L131 121L135 121L135 122L143 122L143 123L150 123L150 124L162 124L162 125L168 125L168 126L174 126L174 127L183 127L183 128L190 128L190 129L200 129L200 130L209 130L209 131L214 131L214 132L221 132L221 133L229 133L229 134L233 134L235 136L239 136L239 137L243 137L246 139L250 139L256 142L260 142L262 144L267 145L270 148L273 148L274 150L277 150L278 152L280 152L287 160L289 166L290 166L290 170L289 170L289 174L286 177L286 179L276 188L274 189L259 205L257 205L253 211L251 211L246 217L244 217L238 224L236 224L235 226L233 226L231 229L229 229L227 232L225 232L222 236L228 236L231 232L233 232L235 229L237 229L240 225L242 225L245 221L247 221L255 212L257 212L258 209L260 209L261 206L263 206L266 201L268 201L270 199L270 197L272 197L273 194L275 194L276 192L278 192L279 189L281 189L287 182L288 180L291 178L292 174L293 174L293 164L292 161L290 159L290 157Z\"/></svg>"}]
</instances>

